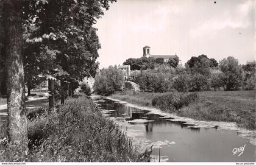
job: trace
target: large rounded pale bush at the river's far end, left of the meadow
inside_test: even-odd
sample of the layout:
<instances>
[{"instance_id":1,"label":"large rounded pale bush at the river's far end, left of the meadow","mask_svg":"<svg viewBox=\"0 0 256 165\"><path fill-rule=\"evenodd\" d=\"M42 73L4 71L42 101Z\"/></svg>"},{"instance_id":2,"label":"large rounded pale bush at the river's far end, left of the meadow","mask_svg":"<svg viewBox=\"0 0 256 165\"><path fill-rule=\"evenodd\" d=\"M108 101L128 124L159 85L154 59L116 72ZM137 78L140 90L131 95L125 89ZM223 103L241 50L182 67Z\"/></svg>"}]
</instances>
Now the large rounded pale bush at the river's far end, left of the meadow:
<instances>
[{"instance_id":1,"label":"large rounded pale bush at the river's far end, left of the meadow","mask_svg":"<svg viewBox=\"0 0 256 165\"><path fill-rule=\"evenodd\" d=\"M96 75L93 88L97 94L109 95L121 90L123 83L123 72L116 66L109 66Z\"/></svg>"}]
</instances>

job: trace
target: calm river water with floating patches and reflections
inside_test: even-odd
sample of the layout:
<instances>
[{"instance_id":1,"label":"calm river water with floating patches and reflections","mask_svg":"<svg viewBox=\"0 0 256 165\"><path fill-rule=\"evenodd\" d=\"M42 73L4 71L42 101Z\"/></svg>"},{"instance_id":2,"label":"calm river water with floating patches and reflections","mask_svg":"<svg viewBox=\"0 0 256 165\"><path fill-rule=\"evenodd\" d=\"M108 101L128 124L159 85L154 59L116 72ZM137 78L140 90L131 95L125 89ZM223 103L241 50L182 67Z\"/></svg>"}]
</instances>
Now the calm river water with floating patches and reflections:
<instances>
[{"instance_id":1,"label":"calm river water with floating patches and reflections","mask_svg":"<svg viewBox=\"0 0 256 165\"><path fill-rule=\"evenodd\" d=\"M108 118L127 128L127 135L132 136L141 149L154 144L152 157L157 160L161 147L161 161L255 161L255 146L235 131L219 130L218 127L193 128L103 97L94 98L94 101ZM233 155L235 147L244 145L240 156L240 153Z\"/></svg>"}]
</instances>

